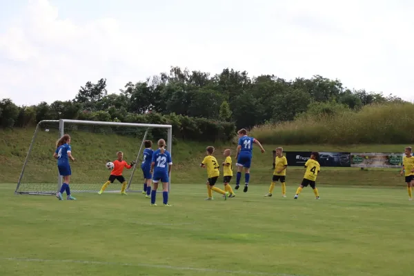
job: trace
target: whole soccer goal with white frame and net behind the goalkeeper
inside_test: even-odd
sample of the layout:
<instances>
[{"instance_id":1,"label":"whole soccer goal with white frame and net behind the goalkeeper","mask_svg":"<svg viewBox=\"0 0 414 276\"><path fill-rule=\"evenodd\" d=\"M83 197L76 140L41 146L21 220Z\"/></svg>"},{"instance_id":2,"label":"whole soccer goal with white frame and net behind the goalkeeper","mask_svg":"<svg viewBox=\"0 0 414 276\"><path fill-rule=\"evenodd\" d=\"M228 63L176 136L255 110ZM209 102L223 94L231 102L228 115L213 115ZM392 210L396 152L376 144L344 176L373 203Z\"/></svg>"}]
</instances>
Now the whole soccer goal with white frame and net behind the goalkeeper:
<instances>
[{"instance_id":1,"label":"whole soccer goal with white frame and net behind the goalkeeper","mask_svg":"<svg viewBox=\"0 0 414 276\"><path fill-rule=\"evenodd\" d=\"M64 134L71 137L72 156L70 161L72 193L95 193L108 180L110 171L107 161L117 159L117 152L124 152L124 160L137 164L124 169L128 181L127 191L141 192L144 177L141 172L141 153L144 141L151 139L156 149L157 140L165 139L167 150L172 150L172 126L160 124L130 124L107 121L46 120L37 124L32 141L21 169L15 193L30 195L55 195L62 184L57 170L57 161L52 157L56 141ZM138 170L138 171L137 171ZM171 184L168 184L170 192ZM107 192L121 190L121 184L114 181Z\"/></svg>"}]
</instances>

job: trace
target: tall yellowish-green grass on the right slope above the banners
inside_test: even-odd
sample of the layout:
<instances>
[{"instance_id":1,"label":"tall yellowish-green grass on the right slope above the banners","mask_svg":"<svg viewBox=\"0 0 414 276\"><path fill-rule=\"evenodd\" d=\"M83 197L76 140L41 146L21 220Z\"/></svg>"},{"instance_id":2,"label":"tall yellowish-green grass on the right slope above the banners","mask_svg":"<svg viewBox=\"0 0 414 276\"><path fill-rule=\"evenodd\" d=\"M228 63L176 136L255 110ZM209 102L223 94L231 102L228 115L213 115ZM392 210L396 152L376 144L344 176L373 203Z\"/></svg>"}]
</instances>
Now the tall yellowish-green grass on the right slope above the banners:
<instances>
[{"instance_id":1,"label":"tall yellowish-green grass on the right slope above the banners","mask_svg":"<svg viewBox=\"0 0 414 276\"><path fill-rule=\"evenodd\" d=\"M250 134L266 144L409 144L414 141L414 104L387 103L333 116L302 116L257 126Z\"/></svg>"}]
</instances>

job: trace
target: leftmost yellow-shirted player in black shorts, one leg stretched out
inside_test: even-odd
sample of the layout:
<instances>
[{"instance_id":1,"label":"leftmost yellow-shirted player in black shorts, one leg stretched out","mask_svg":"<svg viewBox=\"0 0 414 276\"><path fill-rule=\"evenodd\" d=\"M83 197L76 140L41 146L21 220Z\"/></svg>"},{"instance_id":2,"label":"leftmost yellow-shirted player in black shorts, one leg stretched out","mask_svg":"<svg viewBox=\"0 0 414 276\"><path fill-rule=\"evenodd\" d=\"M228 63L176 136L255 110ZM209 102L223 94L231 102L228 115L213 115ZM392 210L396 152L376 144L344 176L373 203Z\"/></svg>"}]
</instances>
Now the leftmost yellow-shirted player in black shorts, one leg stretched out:
<instances>
[{"instance_id":1,"label":"leftmost yellow-shirted player in black shorts, one leg stretched out","mask_svg":"<svg viewBox=\"0 0 414 276\"><path fill-rule=\"evenodd\" d=\"M208 197L206 198L206 200L212 200L213 199L212 190L214 190L216 193L220 193L221 195L224 195L224 200L226 200L229 193L225 192L224 190L221 190L220 188L215 187L215 183L217 182L217 179L220 176L220 171L219 171L220 166L217 162L217 159L215 159L215 157L213 156L214 147L208 146L206 148L206 152L207 152L207 156L204 157L204 160L201 162L201 165L200 165L201 168L206 168L207 169L207 175L208 175L207 192L208 192Z\"/></svg>"}]
</instances>

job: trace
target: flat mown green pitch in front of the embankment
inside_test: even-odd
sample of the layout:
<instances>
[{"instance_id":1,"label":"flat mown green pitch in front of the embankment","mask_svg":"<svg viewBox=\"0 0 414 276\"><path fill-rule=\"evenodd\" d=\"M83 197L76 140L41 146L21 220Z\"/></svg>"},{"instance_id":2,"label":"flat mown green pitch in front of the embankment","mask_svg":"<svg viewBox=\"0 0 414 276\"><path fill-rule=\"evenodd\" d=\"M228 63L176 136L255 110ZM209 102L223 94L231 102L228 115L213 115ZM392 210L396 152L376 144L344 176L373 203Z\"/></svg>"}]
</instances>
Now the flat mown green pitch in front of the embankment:
<instances>
[{"instance_id":1,"label":"flat mown green pitch in front of the embankment","mask_svg":"<svg viewBox=\"0 0 414 276\"><path fill-rule=\"evenodd\" d=\"M137 193L58 201L3 184L1 275L411 275L414 206L403 185L319 186L319 201L310 188L294 200L296 188L265 198L268 186L252 184L204 201L203 184L174 184L165 208Z\"/></svg>"}]
</instances>

